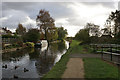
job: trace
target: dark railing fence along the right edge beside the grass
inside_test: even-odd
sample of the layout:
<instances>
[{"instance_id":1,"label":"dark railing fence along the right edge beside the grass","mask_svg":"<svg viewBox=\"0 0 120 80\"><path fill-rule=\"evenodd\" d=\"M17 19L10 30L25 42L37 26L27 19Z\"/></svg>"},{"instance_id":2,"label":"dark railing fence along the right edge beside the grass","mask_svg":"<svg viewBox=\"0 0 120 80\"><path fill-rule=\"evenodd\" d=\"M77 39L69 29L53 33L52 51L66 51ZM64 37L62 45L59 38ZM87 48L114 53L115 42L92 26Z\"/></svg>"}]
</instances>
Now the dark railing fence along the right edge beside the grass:
<instances>
[{"instance_id":1,"label":"dark railing fence along the right edge beside the grass","mask_svg":"<svg viewBox=\"0 0 120 80\"><path fill-rule=\"evenodd\" d=\"M118 44L90 44L94 52L101 53L101 58L120 65L120 45Z\"/></svg>"}]
</instances>

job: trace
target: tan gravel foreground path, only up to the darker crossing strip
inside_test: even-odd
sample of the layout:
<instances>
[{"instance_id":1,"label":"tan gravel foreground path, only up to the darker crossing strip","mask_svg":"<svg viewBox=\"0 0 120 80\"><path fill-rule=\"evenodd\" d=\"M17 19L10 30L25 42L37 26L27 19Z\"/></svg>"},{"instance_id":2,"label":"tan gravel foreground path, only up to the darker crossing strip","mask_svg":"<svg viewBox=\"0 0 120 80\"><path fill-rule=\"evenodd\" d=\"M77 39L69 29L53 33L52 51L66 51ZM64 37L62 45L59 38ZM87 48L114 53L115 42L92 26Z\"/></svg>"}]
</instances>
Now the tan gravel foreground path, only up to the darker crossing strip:
<instances>
[{"instance_id":1,"label":"tan gravel foreground path, only up to the darker crossing strip","mask_svg":"<svg viewBox=\"0 0 120 80\"><path fill-rule=\"evenodd\" d=\"M67 63L67 69L65 70L62 78L84 78L84 65L82 58L70 58Z\"/></svg>"}]
</instances>

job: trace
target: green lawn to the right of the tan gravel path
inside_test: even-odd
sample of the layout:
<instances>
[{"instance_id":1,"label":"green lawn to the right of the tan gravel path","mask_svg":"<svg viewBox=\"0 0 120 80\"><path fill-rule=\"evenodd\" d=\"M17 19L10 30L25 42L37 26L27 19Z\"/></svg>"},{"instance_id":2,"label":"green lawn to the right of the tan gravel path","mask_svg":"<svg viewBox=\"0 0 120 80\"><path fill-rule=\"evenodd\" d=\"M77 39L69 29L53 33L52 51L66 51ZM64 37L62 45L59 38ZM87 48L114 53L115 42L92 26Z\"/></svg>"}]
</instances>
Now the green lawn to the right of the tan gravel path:
<instances>
[{"instance_id":1,"label":"green lawn to the right of the tan gravel path","mask_svg":"<svg viewBox=\"0 0 120 80\"><path fill-rule=\"evenodd\" d=\"M98 58L84 58L85 78L118 78L118 68Z\"/></svg>"}]
</instances>

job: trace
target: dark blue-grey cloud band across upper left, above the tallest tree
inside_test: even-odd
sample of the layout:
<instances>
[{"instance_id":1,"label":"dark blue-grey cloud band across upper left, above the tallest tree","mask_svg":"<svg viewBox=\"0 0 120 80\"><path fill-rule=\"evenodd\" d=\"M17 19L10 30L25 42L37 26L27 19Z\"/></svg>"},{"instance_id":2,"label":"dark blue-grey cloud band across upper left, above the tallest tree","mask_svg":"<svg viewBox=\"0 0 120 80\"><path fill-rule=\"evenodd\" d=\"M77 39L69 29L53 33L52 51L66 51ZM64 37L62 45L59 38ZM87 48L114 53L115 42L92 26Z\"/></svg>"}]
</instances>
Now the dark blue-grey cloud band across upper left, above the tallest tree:
<instances>
[{"instance_id":1,"label":"dark blue-grey cloud band across upper left, above the tallest tree","mask_svg":"<svg viewBox=\"0 0 120 80\"><path fill-rule=\"evenodd\" d=\"M64 4L64 5L63 5ZM40 9L50 11L55 17L63 16L64 14L72 13L63 2L4 2L2 10L21 10L29 13L30 17L35 18Z\"/></svg>"}]
</instances>

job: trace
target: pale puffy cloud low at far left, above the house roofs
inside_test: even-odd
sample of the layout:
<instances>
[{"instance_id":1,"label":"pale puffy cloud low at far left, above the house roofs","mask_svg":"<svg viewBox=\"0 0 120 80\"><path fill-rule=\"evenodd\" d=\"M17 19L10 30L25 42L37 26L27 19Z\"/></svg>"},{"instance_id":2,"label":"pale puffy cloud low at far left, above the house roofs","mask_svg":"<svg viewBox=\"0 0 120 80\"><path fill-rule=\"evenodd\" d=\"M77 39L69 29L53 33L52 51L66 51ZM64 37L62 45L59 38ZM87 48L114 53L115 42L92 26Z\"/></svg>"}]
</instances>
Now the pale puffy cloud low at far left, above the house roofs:
<instances>
[{"instance_id":1,"label":"pale puffy cloud low at far left, above the house roofs","mask_svg":"<svg viewBox=\"0 0 120 80\"><path fill-rule=\"evenodd\" d=\"M10 29L14 29L17 27L18 23L25 21L25 17L27 16L27 14L25 14L24 12L21 11L5 11L5 13L7 13L7 20L2 21L2 26L3 27L9 27Z\"/></svg>"}]
</instances>

